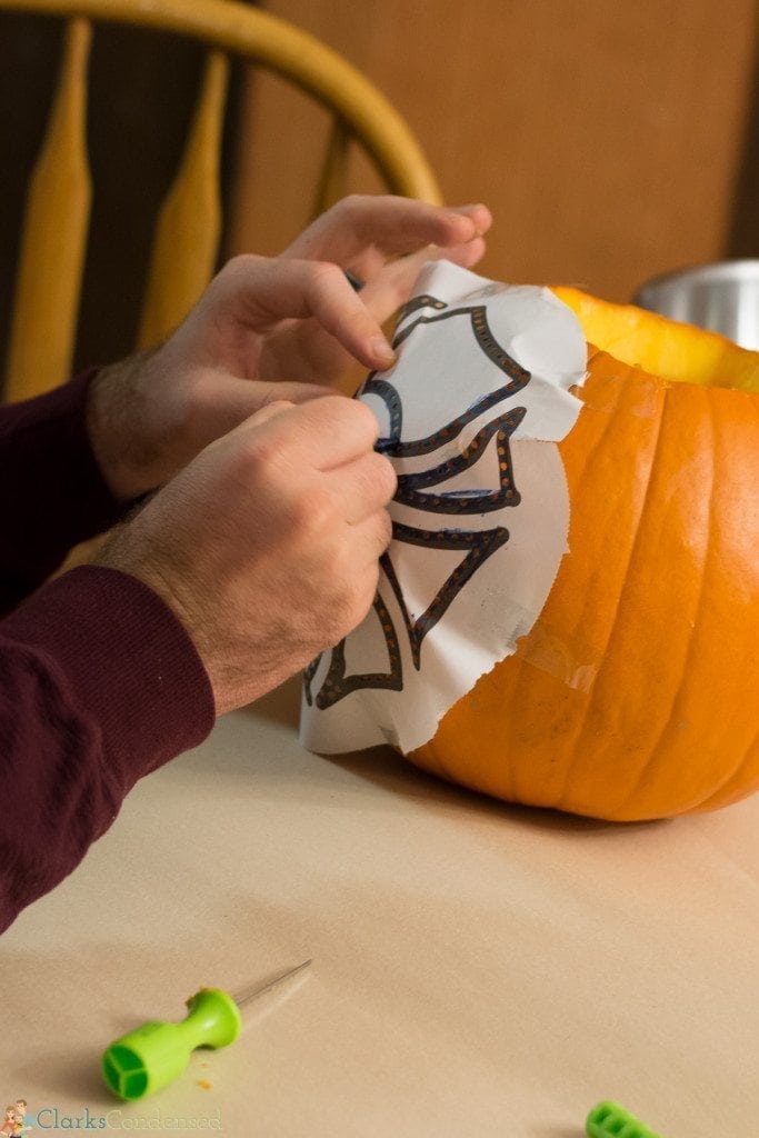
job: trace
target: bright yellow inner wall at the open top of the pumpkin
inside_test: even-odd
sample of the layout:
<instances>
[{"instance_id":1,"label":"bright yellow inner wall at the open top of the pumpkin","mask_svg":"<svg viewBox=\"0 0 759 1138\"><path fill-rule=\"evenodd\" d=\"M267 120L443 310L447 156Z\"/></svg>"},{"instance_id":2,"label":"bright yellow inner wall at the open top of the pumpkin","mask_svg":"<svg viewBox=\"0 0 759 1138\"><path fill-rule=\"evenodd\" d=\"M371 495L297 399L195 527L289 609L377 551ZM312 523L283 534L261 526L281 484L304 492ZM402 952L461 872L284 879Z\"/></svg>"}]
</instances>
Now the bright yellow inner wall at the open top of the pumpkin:
<instances>
[{"instance_id":1,"label":"bright yellow inner wall at the open top of the pumpkin","mask_svg":"<svg viewBox=\"0 0 759 1138\"><path fill-rule=\"evenodd\" d=\"M564 286L552 291L572 310L585 339L621 363L670 382L759 393L759 352L632 304Z\"/></svg>"}]
</instances>

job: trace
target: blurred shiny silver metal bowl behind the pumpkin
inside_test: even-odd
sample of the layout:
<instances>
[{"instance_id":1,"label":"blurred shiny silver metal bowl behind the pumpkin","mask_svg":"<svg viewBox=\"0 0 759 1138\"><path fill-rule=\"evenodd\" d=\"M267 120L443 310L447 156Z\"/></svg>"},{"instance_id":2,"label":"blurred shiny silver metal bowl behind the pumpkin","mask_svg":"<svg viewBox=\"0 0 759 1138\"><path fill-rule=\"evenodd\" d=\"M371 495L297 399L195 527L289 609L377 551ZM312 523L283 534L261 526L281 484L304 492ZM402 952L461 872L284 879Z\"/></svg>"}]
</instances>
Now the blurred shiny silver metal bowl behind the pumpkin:
<instances>
[{"instance_id":1,"label":"blurred shiny silver metal bowl behind the pumpkin","mask_svg":"<svg viewBox=\"0 0 759 1138\"><path fill-rule=\"evenodd\" d=\"M720 261L649 281L635 304L759 351L759 261Z\"/></svg>"}]
</instances>

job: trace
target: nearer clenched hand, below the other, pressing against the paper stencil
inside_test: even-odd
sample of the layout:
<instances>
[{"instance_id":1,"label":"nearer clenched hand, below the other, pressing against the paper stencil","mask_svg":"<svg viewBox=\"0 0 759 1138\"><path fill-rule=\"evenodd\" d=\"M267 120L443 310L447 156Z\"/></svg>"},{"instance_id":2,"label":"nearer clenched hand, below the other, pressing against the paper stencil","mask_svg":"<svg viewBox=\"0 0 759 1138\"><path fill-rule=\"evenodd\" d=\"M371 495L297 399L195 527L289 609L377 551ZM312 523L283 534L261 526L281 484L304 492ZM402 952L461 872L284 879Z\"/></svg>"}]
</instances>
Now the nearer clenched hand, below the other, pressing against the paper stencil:
<instances>
[{"instance_id":1,"label":"nearer clenched hand, below the other, pressing against the paper stencil","mask_svg":"<svg viewBox=\"0 0 759 1138\"><path fill-rule=\"evenodd\" d=\"M174 610L216 714L241 707L364 618L396 479L362 403L274 403L212 443L100 552Z\"/></svg>"}]
</instances>

